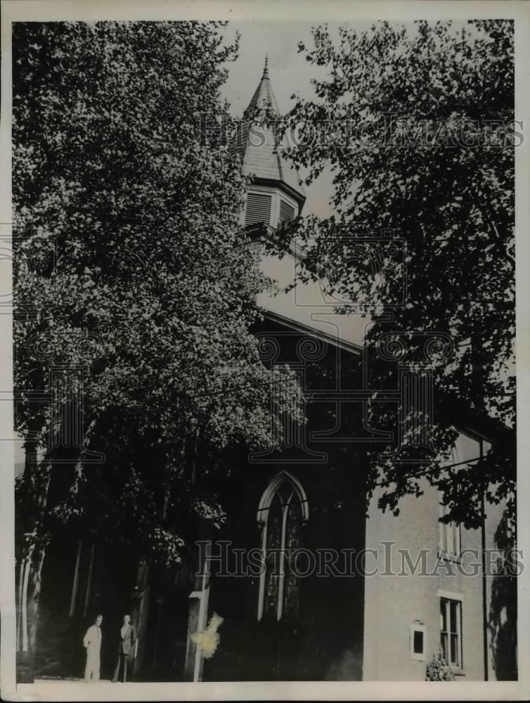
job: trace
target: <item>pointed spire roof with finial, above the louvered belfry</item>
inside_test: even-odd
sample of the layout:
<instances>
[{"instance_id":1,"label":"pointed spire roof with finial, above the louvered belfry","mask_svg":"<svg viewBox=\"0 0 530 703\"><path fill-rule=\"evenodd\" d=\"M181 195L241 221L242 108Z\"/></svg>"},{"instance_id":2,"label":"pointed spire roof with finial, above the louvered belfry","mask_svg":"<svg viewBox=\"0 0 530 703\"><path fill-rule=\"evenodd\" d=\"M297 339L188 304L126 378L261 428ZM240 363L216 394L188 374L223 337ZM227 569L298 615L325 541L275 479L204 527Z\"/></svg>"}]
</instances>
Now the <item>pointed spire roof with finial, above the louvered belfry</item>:
<instances>
[{"instance_id":1,"label":"pointed spire roof with finial, above the louvered belfry","mask_svg":"<svg viewBox=\"0 0 530 703\"><path fill-rule=\"evenodd\" d=\"M243 162L243 175L252 174L256 181L263 183L278 183L278 188L289 192L301 205L306 199L304 188L299 183L299 177L276 149L274 130L265 128L252 129L253 118L260 110L269 108L273 115L280 117L280 108L274 97L271 80L269 79L269 58L265 58L263 74L254 91L252 100L243 113L243 124L238 129L231 150L239 153Z\"/></svg>"}]
</instances>

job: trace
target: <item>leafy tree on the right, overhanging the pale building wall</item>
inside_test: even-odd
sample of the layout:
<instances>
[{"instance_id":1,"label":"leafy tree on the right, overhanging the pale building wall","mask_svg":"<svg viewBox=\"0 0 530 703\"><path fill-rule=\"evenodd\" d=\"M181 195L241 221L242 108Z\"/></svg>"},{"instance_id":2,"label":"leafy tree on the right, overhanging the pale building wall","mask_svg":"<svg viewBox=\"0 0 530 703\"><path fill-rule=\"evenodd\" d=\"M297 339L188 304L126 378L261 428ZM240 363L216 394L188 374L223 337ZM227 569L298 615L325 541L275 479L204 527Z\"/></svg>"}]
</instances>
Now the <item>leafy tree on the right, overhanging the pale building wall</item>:
<instances>
[{"instance_id":1,"label":"leafy tree on the right, overhanging the pale building wall","mask_svg":"<svg viewBox=\"0 0 530 703\"><path fill-rule=\"evenodd\" d=\"M427 477L444 491L446 520L477 526L484 494L507 501L512 514L514 146L521 140L512 22L378 22L361 32L341 28L337 44L327 26L316 27L314 48L299 50L329 72L314 80L314 100L297 98L286 122L297 128L296 141L287 153L309 169L308 182L330 165L336 216L302 219L284 228L283 242L296 236L305 244L301 278L324 272L330 293L347 302L341 312L370 316L373 427L396 429L384 392L396 387L397 361L427 370L436 384L434 415L401 405L406 439L414 439L406 428L415 413L418 425L432 427L431 446L401 447L401 459L420 461L411 467L395 453L384 458L377 444L370 492L382 486L380 507L399 512L399 498L421 494ZM370 242L368 234L382 238ZM429 338L434 347L425 356ZM491 447L470 466L441 471L457 430L470 426Z\"/></svg>"}]
</instances>

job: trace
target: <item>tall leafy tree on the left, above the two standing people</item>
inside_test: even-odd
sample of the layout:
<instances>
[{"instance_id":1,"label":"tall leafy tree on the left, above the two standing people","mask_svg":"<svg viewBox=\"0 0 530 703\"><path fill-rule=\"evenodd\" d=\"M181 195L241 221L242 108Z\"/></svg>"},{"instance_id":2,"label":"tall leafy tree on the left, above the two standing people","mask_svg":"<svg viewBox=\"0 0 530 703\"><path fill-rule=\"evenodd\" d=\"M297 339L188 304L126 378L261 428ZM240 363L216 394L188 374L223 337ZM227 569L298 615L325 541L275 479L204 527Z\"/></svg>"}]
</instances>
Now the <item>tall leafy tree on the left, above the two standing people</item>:
<instances>
[{"instance_id":1,"label":"tall leafy tree on the left, above the two standing people","mask_svg":"<svg viewBox=\"0 0 530 703\"><path fill-rule=\"evenodd\" d=\"M215 22L13 32L18 558L32 565L32 654L54 529L178 562L190 516L223 518L201 472L268 446L278 411L300 418L294 376L267 370L250 333L267 282L239 224L240 167L221 134L198 133L202 113L228 120L219 88L237 46Z\"/></svg>"}]
</instances>

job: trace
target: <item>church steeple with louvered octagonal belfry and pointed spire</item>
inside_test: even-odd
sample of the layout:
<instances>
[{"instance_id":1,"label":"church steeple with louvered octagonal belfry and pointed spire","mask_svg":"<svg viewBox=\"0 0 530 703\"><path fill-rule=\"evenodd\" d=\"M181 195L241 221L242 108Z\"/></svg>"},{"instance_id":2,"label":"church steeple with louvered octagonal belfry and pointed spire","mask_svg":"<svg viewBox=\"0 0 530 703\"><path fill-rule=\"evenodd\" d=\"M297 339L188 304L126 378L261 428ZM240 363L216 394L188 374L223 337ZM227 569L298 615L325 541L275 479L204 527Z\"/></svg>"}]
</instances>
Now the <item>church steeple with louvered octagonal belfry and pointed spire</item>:
<instances>
[{"instance_id":1,"label":"church steeple with louvered octagonal belfry and pointed spire","mask_svg":"<svg viewBox=\"0 0 530 703\"><path fill-rule=\"evenodd\" d=\"M243 124L238 129L231 150L242 160L242 173L252 176L247 193L245 224L264 222L276 227L280 222L297 217L306 199L304 188L295 169L285 161L276 143L274 125L259 122L264 112L266 117L280 117L271 79L269 57L252 99L243 113Z\"/></svg>"}]
</instances>

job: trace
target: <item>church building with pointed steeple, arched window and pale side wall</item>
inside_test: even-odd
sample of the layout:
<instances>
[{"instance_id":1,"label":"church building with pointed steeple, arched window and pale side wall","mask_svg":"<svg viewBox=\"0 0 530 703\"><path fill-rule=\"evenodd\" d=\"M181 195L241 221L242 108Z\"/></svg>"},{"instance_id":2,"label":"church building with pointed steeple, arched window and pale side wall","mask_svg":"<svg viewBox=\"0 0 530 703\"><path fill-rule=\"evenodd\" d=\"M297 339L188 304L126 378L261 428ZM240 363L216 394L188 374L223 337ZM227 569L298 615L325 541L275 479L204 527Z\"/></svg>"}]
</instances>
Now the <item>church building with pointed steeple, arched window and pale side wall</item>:
<instances>
[{"instance_id":1,"label":"church building with pointed steeple, arched window and pale side wall","mask_svg":"<svg viewBox=\"0 0 530 703\"><path fill-rule=\"evenodd\" d=\"M253 131L263 109L280 116L267 65L231 149L252 178L242 222L262 270L285 288L300 253L280 258L262 245L303 214L306 193L274 128ZM286 427L280 447L241 456L240 470L216 486L226 522L205 524L179 569L154 572L74 538L51 544L42 650L64 651L65 638L77 642L72 632L79 638L105 607L131 613L137 681L423 681L439 652L465 681L516 678L515 603L506 577L483 568L503 506L487 505L481 529L469 530L439 522L442 496L427 483L420 497L402 499L397 516L377 507L377 494L367 504L378 436L363 415L366 321L336 314L318 282L258 303L262 361L295 370L306 424ZM487 451L484 425L459 430L447 470ZM209 627L219 635L212 651L194 636ZM81 660L72 652L62 671L70 666L75 677ZM57 672L43 657L39 676Z\"/></svg>"}]
</instances>

